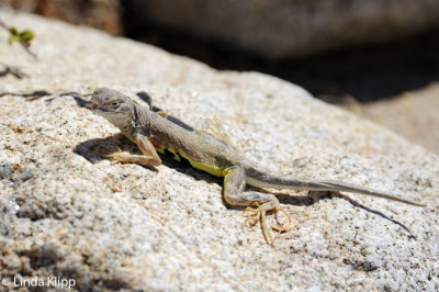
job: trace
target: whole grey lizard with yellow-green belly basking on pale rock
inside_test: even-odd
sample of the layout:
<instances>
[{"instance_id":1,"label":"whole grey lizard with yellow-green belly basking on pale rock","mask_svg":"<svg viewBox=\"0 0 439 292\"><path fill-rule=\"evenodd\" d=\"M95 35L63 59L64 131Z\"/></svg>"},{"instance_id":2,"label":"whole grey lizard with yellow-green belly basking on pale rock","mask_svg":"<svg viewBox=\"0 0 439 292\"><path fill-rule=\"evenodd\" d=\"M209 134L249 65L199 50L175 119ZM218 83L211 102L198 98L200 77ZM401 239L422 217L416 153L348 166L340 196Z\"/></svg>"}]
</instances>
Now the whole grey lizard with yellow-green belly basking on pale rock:
<instances>
[{"instance_id":1,"label":"whole grey lizard with yellow-green belly basking on pale rock","mask_svg":"<svg viewBox=\"0 0 439 292\"><path fill-rule=\"evenodd\" d=\"M165 112L156 113L116 90L97 88L86 108L119 127L121 133L142 151L142 155L134 155L119 150L103 156L120 162L158 167L161 165L158 153L169 151L178 161L184 158L192 167L224 178L225 201L234 206L246 207L244 212L251 212L247 221L254 224L260 222L262 233L269 244L273 243L271 229L288 232L293 228L291 217L281 207L274 194L245 191L246 184L258 189L350 192L424 206L417 202L351 183L272 175L247 159L243 153L225 141L207 132L188 131L169 121ZM282 226L269 226L266 220L268 211L280 211L288 216L290 222Z\"/></svg>"}]
</instances>

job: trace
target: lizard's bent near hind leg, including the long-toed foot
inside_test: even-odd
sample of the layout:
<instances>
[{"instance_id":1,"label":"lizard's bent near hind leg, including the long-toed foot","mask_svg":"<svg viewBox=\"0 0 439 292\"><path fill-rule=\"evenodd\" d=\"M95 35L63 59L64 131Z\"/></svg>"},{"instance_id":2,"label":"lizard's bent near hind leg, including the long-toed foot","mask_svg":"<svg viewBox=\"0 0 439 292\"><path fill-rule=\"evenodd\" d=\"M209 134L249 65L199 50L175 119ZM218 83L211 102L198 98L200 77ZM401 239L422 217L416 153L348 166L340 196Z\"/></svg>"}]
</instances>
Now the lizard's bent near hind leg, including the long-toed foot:
<instances>
[{"instance_id":1,"label":"lizard's bent near hind leg, including the long-toed foot","mask_svg":"<svg viewBox=\"0 0 439 292\"><path fill-rule=\"evenodd\" d=\"M291 217L283 209L280 207L279 200L273 194L256 191L244 192L245 187L246 170L244 167L235 166L229 168L224 178L224 198L226 202L230 205L247 206L245 212L249 211L254 213L247 221L252 221L254 223L260 221L267 242L272 244L273 238L266 220L267 211L281 211L289 217L290 223L282 227L270 226L278 232L290 231L292 228ZM251 207L254 204L257 206L257 209Z\"/></svg>"}]
</instances>

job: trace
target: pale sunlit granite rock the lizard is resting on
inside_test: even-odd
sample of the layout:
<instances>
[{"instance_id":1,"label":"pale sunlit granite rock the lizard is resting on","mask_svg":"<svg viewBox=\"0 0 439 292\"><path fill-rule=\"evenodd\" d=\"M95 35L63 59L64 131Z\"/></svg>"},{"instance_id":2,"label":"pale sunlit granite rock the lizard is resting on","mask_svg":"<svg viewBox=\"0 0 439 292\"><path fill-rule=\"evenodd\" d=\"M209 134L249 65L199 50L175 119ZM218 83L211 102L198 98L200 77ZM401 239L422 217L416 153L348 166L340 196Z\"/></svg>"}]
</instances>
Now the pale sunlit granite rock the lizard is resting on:
<instances>
[{"instance_id":1,"label":"pale sunlit granite rock the lizard is resting on","mask_svg":"<svg viewBox=\"0 0 439 292\"><path fill-rule=\"evenodd\" d=\"M0 33L2 61L30 76L0 79L0 278L71 278L81 291L439 289L438 156L277 78L215 71L33 15L0 16L32 27L40 56ZM93 154L104 138L116 145L117 130L71 92L101 86L148 91L199 128L217 115L273 172L340 179L428 207L291 192L281 202L295 228L269 246L259 226L244 226L241 209L225 204L219 179L170 159L149 169ZM31 94L43 90L50 94Z\"/></svg>"}]
</instances>

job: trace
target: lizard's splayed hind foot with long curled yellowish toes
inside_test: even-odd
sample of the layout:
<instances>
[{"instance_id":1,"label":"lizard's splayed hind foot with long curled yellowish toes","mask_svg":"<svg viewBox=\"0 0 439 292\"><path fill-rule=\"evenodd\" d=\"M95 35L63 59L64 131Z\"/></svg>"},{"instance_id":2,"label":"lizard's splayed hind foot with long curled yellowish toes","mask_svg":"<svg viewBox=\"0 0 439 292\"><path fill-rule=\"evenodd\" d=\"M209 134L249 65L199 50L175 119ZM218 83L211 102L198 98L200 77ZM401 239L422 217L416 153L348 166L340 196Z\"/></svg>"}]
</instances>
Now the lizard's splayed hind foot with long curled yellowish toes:
<instances>
[{"instance_id":1,"label":"lizard's splayed hind foot with long curled yellowish toes","mask_svg":"<svg viewBox=\"0 0 439 292\"><path fill-rule=\"evenodd\" d=\"M256 206L256 209L254 206ZM290 215L286 213L286 211L279 206L277 206L272 210L274 210L275 212L281 211L283 214L286 215L286 217L289 218L289 222L284 223L282 226L271 225L270 227L273 231L279 232L279 233L291 231L293 228L293 224L292 224L292 220L291 220ZM266 239L271 245L273 243L273 238L271 236L271 232L270 232L270 228L268 227L267 220L266 220L267 211L268 210L266 210L264 204L259 204L258 202L254 202L251 205L247 206L244 210L243 215L246 212L252 213L250 216L247 217L245 224L247 224L247 222L250 222L252 225L255 225L258 222L260 222L262 225L263 234L266 235Z\"/></svg>"}]
</instances>

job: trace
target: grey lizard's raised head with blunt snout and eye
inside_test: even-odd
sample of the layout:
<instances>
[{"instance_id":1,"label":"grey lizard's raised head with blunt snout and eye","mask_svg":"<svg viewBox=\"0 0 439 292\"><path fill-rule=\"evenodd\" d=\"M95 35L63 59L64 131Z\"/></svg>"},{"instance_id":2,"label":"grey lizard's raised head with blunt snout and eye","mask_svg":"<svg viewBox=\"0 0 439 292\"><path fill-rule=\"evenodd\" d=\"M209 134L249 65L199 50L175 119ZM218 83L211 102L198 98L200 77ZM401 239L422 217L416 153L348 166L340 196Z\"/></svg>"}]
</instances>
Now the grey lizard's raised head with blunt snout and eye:
<instances>
[{"instance_id":1,"label":"grey lizard's raised head with blunt snout and eye","mask_svg":"<svg viewBox=\"0 0 439 292\"><path fill-rule=\"evenodd\" d=\"M121 92L109 88L97 88L86 108L105 117L115 126L131 124L134 102Z\"/></svg>"}]
</instances>

